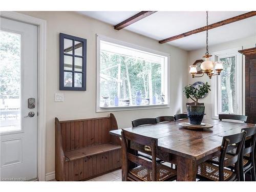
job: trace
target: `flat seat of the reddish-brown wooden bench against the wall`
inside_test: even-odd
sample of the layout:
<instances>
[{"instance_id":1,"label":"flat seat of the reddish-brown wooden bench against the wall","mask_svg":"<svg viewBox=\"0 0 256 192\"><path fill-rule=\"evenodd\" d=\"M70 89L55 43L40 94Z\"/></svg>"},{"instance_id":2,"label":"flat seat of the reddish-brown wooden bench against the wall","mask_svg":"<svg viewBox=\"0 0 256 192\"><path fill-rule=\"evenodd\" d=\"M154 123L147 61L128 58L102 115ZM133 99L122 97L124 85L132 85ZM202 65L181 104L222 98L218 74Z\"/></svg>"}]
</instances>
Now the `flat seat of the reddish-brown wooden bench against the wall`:
<instances>
[{"instance_id":1,"label":"flat seat of the reddish-brown wooden bench against the wall","mask_svg":"<svg viewBox=\"0 0 256 192\"><path fill-rule=\"evenodd\" d=\"M84 157L98 155L104 152L110 152L114 150L121 150L121 146L118 144L105 143L105 144L95 145L91 147L84 147L84 148L79 148L78 150L65 152L64 155L68 158L68 161L74 161L77 159L82 159Z\"/></svg>"}]
</instances>

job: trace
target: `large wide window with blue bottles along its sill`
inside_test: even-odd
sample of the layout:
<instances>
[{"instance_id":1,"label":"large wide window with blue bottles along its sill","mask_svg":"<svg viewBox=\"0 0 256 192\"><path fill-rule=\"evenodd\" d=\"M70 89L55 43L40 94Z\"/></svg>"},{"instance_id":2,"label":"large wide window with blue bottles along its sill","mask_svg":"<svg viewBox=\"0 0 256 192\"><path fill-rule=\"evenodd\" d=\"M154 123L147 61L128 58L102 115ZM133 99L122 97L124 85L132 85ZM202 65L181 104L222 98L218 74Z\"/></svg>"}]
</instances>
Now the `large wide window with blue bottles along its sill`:
<instances>
[{"instance_id":1,"label":"large wide window with blue bottles along its sill","mask_svg":"<svg viewBox=\"0 0 256 192\"><path fill-rule=\"evenodd\" d=\"M97 35L97 111L167 105L168 60L166 53Z\"/></svg>"}]
</instances>

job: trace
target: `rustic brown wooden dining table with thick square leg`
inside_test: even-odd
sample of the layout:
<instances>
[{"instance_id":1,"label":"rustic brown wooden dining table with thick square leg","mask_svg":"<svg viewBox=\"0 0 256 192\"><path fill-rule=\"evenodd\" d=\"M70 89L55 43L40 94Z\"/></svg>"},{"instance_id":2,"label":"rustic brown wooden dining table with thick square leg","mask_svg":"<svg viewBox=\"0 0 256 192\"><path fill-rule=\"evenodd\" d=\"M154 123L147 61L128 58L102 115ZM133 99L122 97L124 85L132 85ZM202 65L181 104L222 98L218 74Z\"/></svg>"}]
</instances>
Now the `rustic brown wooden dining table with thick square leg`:
<instances>
[{"instance_id":1,"label":"rustic brown wooden dining table with thick square leg","mask_svg":"<svg viewBox=\"0 0 256 192\"><path fill-rule=\"evenodd\" d=\"M221 153L222 139L226 135L237 134L241 129L254 124L204 119L212 124L211 129L188 130L180 122L188 119L159 124L130 127L125 130L158 139L157 157L177 165L177 181L196 181L197 165ZM110 131L121 137L121 129ZM143 149L134 145L134 150ZM124 178L122 178L124 180Z\"/></svg>"}]
</instances>

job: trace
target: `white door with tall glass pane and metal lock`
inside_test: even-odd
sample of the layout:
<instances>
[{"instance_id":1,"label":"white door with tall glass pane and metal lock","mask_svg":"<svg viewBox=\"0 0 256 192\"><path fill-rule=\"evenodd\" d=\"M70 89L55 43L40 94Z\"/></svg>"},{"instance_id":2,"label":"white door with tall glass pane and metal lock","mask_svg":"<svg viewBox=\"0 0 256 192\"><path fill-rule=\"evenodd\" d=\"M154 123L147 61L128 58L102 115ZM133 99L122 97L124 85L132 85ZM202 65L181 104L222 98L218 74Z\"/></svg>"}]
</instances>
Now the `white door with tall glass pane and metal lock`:
<instances>
[{"instance_id":1,"label":"white door with tall glass pane and metal lock","mask_svg":"<svg viewBox=\"0 0 256 192\"><path fill-rule=\"evenodd\" d=\"M0 19L0 181L33 180L37 178L37 27Z\"/></svg>"}]
</instances>

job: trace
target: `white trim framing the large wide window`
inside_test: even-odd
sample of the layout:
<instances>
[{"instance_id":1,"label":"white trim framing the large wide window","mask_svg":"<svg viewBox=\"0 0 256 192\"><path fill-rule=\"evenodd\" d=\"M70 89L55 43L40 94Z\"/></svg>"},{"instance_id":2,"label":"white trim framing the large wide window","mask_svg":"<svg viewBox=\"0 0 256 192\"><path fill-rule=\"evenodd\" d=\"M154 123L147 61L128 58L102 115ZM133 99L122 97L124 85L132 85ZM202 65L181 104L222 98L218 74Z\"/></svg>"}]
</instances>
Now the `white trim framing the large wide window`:
<instances>
[{"instance_id":1,"label":"white trim framing the large wide window","mask_svg":"<svg viewBox=\"0 0 256 192\"><path fill-rule=\"evenodd\" d=\"M108 42L112 42L113 44L118 44L121 46L126 46L126 47L130 47L133 49L138 49L141 51L145 51L145 52L150 52L153 54L158 54L158 55L162 55L167 57L167 63L166 65L164 65L164 71L167 71L167 73L165 73L164 75L164 82L166 82L164 84L164 92L167 93L167 97L165 97L165 99L167 99L165 104L151 104L151 105L138 105L138 106L108 106L108 107L102 107L100 106L100 97L99 97L99 93L100 93L100 40L104 40L104 41L108 41ZM160 51L156 51L156 50L152 50L152 49L148 49L148 48L144 48L141 46L137 46L134 44L130 44L128 42L124 42L124 41L120 41L114 38L110 38L110 37L106 37L103 35L99 35L96 34L96 112L111 112L111 111L129 111L129 110L142 110L142 109L159 109L159 108L169 108L170 105L170 89L169 89L169 84L170 84L170 54L168 53L164 53L164 52L160 52Z\"/></svg>"}]
</instances>

